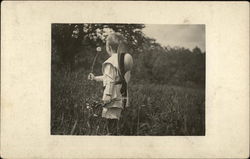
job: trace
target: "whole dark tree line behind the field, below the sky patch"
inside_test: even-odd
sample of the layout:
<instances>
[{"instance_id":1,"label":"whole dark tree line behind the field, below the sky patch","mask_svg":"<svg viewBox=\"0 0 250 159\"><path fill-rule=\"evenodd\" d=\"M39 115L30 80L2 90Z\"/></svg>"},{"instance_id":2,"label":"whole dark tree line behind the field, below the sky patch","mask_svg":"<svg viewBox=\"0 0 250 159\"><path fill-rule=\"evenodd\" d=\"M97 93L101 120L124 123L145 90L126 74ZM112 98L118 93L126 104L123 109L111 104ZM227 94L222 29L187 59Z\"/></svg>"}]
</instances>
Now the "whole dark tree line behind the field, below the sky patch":
<instances>
[{"instance_id":1,"label":"whole dark tree line behind the field, below the sky patch","mask_svg":"<svg viewBox=\"0 0 250 159\"><path fill-rule=\"evenodd\" d=\"M205 87L205 52L196 47L161 46L147 37L144 24L52 24L52 71L89 70L101 47L95 72L108 58L105 39L114 31L124 35L134 58L133 81ZM167 38L167 37L166 37Z\"/></svg>"}]
</instances>

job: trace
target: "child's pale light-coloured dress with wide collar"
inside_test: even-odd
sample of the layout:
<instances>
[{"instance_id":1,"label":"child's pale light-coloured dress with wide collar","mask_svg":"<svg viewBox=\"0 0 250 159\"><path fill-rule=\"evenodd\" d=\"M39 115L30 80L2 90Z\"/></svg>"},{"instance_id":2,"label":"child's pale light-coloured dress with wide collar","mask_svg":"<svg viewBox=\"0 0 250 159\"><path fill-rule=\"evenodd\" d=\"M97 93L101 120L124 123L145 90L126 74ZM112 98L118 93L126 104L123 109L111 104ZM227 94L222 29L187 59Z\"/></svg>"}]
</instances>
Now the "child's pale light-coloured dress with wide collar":
<instances>
[{"instance_id":1,"label":"child's pale light-coloured dress with wide collar","mask_svg":"<svg viewBox=\"0 0 250 159\"><path fill-rule=\"evenodd\" d=\"M105 87L102 99L105 100L107 96L111 96L112 102L107 104L103 108L102 117L108 119L119 119L121 116L121 111L123 109L122 105L122 95L121 95L121 85L115 85L115 81L119 80L118 73L118 55L113 54L108 60L103 63L102 67L103 76L97 76L97 81L103 81L103 86ZM125 80L128 83L130 80L130 71L126 72ZM129 106L129 101L127 97L126 107Z\"/></svg>"}]
</instances>

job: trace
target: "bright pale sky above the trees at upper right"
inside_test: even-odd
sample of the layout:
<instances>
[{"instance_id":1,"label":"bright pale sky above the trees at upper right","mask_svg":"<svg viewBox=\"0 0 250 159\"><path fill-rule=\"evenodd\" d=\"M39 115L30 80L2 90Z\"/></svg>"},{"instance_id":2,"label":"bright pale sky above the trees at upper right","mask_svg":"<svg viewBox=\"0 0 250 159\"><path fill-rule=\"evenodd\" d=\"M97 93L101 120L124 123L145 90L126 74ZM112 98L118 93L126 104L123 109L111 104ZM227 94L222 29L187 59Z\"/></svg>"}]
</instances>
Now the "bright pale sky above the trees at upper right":
<instances>
[{"instance_id":1,"label":"bright pale sky above the trees at upper right","mask_svg":"<svg viewBox=\"0 0 250 159\"><path fill-rule=\"evenodd\" d=\"M205 25L150 24L143 32L163 46L180 46L205 51Z\"/></svg>"}]
</instances>

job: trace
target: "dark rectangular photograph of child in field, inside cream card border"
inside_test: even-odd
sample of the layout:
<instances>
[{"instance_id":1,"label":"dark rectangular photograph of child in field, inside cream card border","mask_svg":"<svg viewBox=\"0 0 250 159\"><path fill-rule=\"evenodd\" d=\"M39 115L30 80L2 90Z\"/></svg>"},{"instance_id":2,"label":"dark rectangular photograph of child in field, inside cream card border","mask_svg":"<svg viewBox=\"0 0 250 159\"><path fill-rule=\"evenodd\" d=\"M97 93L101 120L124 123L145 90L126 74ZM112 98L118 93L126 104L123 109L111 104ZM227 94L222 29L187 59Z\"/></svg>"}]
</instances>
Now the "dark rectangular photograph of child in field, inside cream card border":
<instances>
[{"instance_id":1,"label":"dark rectangular photograph of child in field, inside cream card border","mask_svg":"<svg viewBox=\"0 0 250 159\"><path fill-rule=\"evenodd\" d=\"M51 135L204 136L205 25L51 24Z\"/></svg>"}]
</instances>

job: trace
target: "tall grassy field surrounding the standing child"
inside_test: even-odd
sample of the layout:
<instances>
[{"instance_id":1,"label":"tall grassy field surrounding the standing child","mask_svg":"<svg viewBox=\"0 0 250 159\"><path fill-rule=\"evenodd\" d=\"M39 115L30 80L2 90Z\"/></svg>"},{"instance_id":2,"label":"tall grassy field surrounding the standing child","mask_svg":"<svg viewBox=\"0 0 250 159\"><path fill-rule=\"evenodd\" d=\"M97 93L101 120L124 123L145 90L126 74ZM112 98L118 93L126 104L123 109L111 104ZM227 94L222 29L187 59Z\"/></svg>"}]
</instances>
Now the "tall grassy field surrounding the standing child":
<instances>
[{"instance_id":1,"label":"tall grassy field surrounding the standing child","mask_svg":"<svg viewBox=\"0 0 250 159\"><path fill-rule=\"evenodd\" d=\"M105 135L100 117L102 83L87 71L52 71L51 134ZM205 91L169 85L129 85L130 107L120 135L205 135Z\"/></svg>"}]
</instances>

